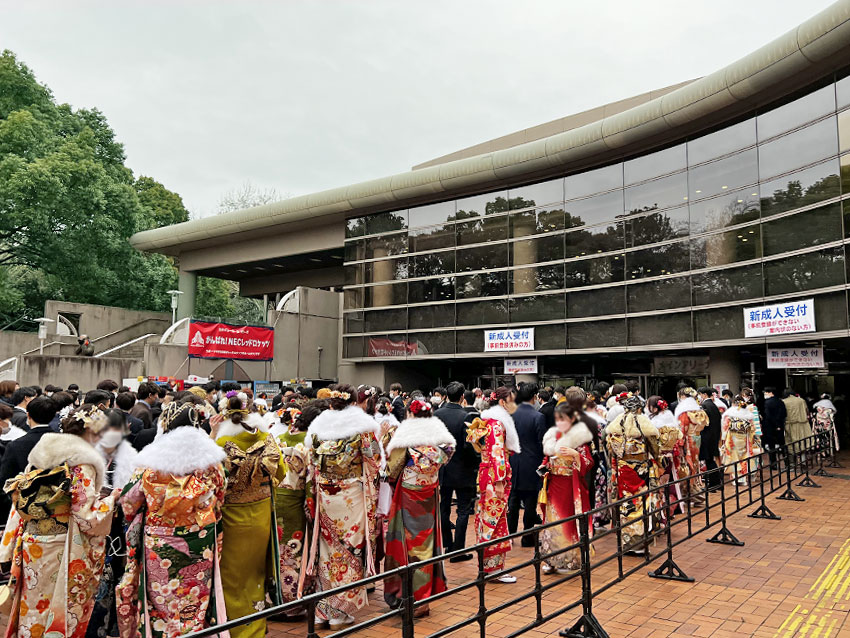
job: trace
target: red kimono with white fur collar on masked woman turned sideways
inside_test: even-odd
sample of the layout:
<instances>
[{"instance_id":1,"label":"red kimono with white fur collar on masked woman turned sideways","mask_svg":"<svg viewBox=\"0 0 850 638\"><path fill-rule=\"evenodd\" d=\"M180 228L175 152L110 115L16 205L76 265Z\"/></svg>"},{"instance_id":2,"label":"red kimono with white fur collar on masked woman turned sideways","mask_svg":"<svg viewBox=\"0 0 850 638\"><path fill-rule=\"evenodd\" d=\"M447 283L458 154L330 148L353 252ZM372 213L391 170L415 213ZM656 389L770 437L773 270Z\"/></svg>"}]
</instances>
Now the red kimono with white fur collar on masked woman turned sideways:
<instances>
[{"instance_id":1,"label":"red kimono with white fur collar on masked woman turned sideways","mask_svg":"<svg viewBox=\"0 0 850 638\"><path fill-rule=\"evenodd\" d=\"M590 443L593 435L587 426L577 421L564 433L551 427L543 436L543 454L546 455L548 472L543 478L540 491L540 511L543 522L559 521L591 509L587 474L593 468ZM575 450L579 454L578 464L564 450ZM540 533L540 551L546 564L557 570L574 570L581 566L579 548L547 557L547 554L564 549L579 540L578 519L549 527Z\"/></svg>"}]
</instances>

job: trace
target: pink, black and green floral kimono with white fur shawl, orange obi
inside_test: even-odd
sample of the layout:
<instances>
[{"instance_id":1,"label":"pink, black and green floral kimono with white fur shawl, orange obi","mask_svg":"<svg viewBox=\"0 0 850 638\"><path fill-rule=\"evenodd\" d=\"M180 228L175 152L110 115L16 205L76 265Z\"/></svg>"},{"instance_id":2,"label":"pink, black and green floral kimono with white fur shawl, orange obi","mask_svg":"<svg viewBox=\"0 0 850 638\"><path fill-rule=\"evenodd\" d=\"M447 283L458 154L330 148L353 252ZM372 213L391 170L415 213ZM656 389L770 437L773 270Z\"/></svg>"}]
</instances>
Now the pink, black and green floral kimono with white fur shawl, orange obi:
<instances>
[{"instance_id":1,"label":"pink, black and green floral kimono with white fur shawl, orange obi","mask_svg":"<svg viewBox=\"0 0 850 638\"><path fill-rule=\"evenodd\" d=\"M219 573L224 460L189 425L136 458L120 500L128 522L127 566L116 588L121 638L175 638L227 620Z\"/></svg>"}]
</instances>

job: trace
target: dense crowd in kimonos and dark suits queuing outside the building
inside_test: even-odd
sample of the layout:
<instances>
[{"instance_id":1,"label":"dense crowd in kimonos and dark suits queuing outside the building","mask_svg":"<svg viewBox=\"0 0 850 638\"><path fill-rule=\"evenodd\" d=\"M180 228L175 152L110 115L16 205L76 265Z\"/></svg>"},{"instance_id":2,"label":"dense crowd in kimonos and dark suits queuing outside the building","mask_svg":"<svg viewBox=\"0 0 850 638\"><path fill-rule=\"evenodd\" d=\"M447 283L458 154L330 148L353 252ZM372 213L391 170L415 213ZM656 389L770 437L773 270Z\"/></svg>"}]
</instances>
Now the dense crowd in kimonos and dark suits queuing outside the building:
<instances>
[{"instance_id":1,"label":"dense crowd in kimonos and dark suits queuing outside the building","mask_svg":"<svg viewBox=\"0 0 850 638\"><path fill-rule=\"evenodd\" d=\"M490 541L483 569L510 584L505 537L520 516L524 530L555 523L539 535L544 573L579 569L569 519L594 509L591 532L618 518L624 548L640 554L651 527L675 515L652 488L700 501L724 480L701 472L727 466L726 480L746 483L763 453L778 463L783 444L813 431L838 444L829 396L809 405L783 394L764 388L757 401L748 387L682 383L668 403L636 383L452 382L427 395L396 383L386 394L340 384L268 397L235 383L130 391L104 380L83 393L3 381L6 635L171 638L382 570L397 608L394 568L448 552L464 562L471 543ZM417 616L428 614L446 569L416 568L412 583ZM315 620L338 629L367 604L353 587L325 597ZM230 631L265 632L265 620Z\"/></svg>"}]
</instances>

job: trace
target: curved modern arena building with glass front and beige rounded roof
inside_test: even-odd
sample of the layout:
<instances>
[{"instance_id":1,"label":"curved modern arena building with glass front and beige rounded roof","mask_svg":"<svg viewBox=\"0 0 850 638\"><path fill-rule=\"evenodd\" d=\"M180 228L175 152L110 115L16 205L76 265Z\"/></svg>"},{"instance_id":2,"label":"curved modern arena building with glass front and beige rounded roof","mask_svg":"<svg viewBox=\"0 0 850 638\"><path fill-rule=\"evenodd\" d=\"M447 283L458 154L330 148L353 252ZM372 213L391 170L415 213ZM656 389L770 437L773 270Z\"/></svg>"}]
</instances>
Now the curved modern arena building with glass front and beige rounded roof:
<instances>
[{"instance_id":1,"label":"curved modern arena building with glass front and beige rounded roof","mask_svg":"<svg viewBox=\"0 0 850 638\"><path fill-rule=\"evenodd\" d=\"M345 380L847 393L848 75L842 1L706 77L132 241L179 258L183 316L196 275L339 291Z\"/></svg>"}]
</instances>

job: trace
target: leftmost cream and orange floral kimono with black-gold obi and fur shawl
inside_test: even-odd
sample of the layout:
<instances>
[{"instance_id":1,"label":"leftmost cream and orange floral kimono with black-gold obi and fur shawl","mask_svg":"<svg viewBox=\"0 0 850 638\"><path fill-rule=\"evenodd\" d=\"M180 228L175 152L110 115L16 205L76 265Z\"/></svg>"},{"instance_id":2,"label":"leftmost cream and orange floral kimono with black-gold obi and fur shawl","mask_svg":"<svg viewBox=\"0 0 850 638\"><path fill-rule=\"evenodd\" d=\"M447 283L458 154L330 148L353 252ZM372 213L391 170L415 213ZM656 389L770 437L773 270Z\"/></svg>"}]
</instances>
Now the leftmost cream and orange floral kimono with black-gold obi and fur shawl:
<instances>
[{"instance_id":1,"label":"leftmost cream and orange floral kimono with black-gold obi and fur shawl","mask_svg":"<svg viewBox=\"0 0 850 638\"><path fill-rule=\"evenodd\" d=\"M12 562L6 638L82 638L112 524L115 495L100 496L103 457L74 434L45 434L27 470L9 479L13 507L0 561Z\"/></svg>"}]
</instances>

